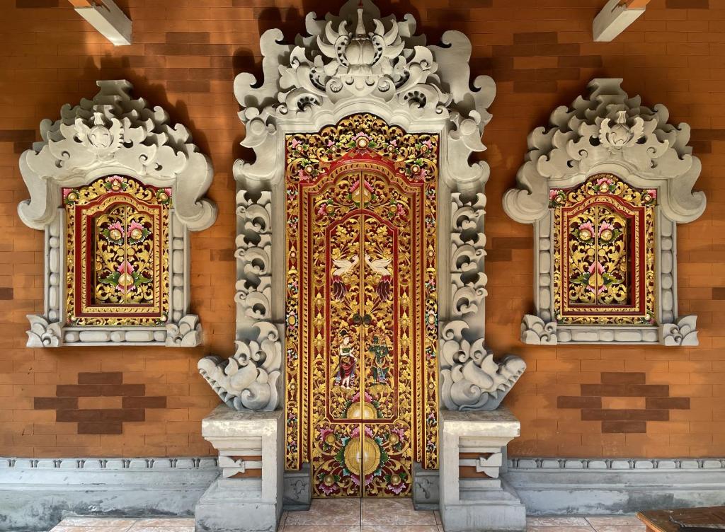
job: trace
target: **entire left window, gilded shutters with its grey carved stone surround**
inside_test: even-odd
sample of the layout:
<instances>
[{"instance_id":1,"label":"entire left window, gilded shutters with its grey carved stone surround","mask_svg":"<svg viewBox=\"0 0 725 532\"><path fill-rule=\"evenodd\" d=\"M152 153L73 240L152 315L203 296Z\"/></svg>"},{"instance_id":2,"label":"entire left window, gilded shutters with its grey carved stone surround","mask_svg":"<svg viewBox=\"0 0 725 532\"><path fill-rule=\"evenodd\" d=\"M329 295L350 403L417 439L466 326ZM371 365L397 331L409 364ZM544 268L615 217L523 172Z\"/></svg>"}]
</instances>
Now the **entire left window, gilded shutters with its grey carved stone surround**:
<instances>
[{"instance_id":1,"label":"entire left window, gilded shutters with its grey carved stone surround","mask_svg":"<svg viewBox=\"0 0 725 532\"><path fill-rule=\"evenodd\" d=\"M128 81L99 87L20 159L20 218L46 232L46 312L28 316L28 346L194 346L188 230L215 220L212 167Z\"/></svg>"}]
</instances>

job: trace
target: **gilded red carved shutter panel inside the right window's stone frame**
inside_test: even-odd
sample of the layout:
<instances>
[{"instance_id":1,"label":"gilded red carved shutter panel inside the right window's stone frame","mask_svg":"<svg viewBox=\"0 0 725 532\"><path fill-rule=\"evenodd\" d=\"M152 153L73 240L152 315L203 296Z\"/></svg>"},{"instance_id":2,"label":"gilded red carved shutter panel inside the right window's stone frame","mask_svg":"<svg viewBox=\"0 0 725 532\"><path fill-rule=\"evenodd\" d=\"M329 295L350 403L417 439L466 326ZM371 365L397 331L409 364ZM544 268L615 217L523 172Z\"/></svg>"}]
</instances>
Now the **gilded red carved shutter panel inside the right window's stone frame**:
<instances>
[{"instance_id":1,"label":"gilded red carved shutter panel inside the right window's stone frame","mask_svg":"<svg viewBox=\"0 0 725 532\"><path fill-rule=\"evenodd\" d=\"M558 323L655 323L656 200L611 174L550 191Z\"/></svg>"}]
</instances>

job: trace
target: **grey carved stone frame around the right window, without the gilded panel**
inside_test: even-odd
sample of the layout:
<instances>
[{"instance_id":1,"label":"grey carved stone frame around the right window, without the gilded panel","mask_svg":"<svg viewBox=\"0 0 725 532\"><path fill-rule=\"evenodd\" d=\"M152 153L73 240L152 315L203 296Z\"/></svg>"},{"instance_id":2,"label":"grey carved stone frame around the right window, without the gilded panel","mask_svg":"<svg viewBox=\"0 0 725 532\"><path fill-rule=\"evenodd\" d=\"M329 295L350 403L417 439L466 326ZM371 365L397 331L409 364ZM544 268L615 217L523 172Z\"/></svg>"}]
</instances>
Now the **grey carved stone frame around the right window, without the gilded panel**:
<instances>
[{"instance_id":1,"label":"grey carved stone frame around the right window, without the gilded panel","mask_svg":"<svg viewBox=\"0 0 725 532\"><path fill-rule=\"evenodd\" d=\"M521 323L521 341L526 344L697 345L697 317L677 313L676 225L696 220L705 210L705 194L692 191L700 160L687 146L689 125L669 124L666 107L643 107L639 96L630 98L622 90L621 82L592 80L588 99L559 107L551 115L550 128L531 132L517 187L504 196L504 209L513 220L534 225L536 313L525 315ZM550 194L579 187L600 174L656 196L653 324L581 325L557 319Z\"/></svg>"}]
</instances>

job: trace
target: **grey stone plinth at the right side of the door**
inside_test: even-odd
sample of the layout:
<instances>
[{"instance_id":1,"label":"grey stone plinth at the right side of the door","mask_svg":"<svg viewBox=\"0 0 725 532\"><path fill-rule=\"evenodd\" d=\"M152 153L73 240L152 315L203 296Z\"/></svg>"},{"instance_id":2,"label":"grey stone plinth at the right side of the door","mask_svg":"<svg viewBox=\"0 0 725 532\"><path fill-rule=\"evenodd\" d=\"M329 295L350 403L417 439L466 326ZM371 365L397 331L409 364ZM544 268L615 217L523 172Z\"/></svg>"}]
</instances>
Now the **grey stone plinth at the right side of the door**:
<instances>
[{"instance_id":1,"label":"grey stone plinth at the right side of the door","mask_svg":"<svg viewBox=\"0 0 725 532\"><path fill-rule=\"evenodd\" d=\"M441 412L440 511L446 532L526 528L526 507L501 475L505 446L520 433L520 423L505 407Z\"/></svg>"}]
</instances>

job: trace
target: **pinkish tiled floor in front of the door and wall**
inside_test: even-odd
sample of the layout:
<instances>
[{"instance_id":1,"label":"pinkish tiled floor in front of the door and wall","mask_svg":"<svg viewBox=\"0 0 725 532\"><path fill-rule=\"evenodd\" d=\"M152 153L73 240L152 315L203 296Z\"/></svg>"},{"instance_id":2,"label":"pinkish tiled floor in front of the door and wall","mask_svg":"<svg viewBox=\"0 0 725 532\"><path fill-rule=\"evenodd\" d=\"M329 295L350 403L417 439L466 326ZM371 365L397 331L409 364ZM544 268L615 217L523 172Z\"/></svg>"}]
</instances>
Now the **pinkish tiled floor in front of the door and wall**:
<instances>
[{"instance_id":1,"label":"pinkish tiled floor in front of the door and wall","mask_svg":"<svg viewBox=\"0 0 725 532\"><path fill-rule=\"evenodd\" d=\"M645 532L634 516L529 518L527 532ZM309 512L284 512L280 532L443 532L438 512L410 499L315 500ZM194 532L193 519L66 518L51 532Z\"/></svg>"}]
</instances>

